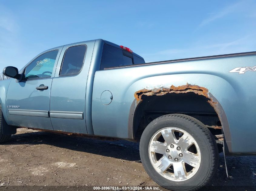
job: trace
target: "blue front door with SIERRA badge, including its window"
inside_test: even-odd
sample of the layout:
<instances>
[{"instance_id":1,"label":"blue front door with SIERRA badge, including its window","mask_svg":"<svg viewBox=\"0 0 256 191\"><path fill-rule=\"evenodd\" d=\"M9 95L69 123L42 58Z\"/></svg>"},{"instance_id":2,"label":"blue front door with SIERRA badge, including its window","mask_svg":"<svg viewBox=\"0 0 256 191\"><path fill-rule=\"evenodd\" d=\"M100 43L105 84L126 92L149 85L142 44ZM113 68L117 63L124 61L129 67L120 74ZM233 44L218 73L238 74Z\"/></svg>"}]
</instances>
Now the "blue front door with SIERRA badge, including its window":
<instances>
[{"instance_id":1,"label":"blue front door with SIERRA badge, including its window","mask_svg":"<svg viewBox=\"0 0 256 191\"><path fill-rule=\"evenodd\" d=\"M61 49L42 53L25 67L21 81L12 79L6 96L9 125L53 130L50 91Z\"/></svg>"}]
</instances>

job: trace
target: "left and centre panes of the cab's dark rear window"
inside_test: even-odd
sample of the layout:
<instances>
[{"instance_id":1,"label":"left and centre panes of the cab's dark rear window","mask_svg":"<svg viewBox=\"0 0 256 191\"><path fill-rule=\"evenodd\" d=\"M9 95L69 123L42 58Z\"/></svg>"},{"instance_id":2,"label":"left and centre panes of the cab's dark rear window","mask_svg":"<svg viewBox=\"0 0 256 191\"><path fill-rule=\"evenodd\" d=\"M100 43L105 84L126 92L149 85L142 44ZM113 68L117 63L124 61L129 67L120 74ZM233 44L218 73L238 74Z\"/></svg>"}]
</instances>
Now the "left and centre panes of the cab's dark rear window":
<instances>
[{"instance_id":1,"label":"left and centre panes of the cab's dark rear window","mask_svg":"<svg viewBox=\"0 0 256 191\"><path fill-rule=\"evenodd\" d=\"M133 64L132 58L124 55L122 49L104 44L101 57L101 70L108 67L131 64Z\"/></svg>"}]
</instances>

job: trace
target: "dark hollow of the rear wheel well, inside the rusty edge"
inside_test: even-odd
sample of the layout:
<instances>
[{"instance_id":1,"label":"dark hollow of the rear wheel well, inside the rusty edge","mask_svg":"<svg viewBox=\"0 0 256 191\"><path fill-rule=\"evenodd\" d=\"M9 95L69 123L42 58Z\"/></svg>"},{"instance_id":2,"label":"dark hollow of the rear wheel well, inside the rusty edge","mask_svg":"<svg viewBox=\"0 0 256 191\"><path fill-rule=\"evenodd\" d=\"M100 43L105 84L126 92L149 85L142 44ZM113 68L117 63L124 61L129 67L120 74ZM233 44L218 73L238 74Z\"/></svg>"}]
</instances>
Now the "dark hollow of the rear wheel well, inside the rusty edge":
<instances>
[{"instance_id":1,"label":"dark hollow of the rear wheel well, inside the rusty edge","mask_svg":"<svg viewBox=\"0 0 256 191\"><path fill-rule=\"evenodd\" d=\"M146 126L157 117L172 113L192 116L208 127L213 135L221 135L220 119L209 101L208 97L194 92L142 95L134 114L134 138L140 139Z\"/></svg>"}]
</instances>

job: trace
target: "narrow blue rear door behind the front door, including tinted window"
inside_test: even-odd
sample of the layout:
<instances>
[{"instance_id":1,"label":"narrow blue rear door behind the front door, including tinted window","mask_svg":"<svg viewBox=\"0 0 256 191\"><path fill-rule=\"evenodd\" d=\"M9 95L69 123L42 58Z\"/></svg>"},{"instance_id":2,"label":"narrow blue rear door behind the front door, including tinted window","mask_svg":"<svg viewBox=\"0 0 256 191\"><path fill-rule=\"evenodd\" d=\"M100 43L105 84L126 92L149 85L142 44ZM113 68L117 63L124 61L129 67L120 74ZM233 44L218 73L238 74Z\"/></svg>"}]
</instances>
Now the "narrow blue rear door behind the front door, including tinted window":
<instances>
[{"instance_id":1,"label":"narrow blue rear door behind the front door, including tinted window","mask_svg":"<svg viewBox=\"0 0 256 191\"><path fill-rule=\"evenodd\" d=\"M54 130L87 134L85 92L93 46L73 44L62 50L50 97Z\"/></svg>"}]
</instances>

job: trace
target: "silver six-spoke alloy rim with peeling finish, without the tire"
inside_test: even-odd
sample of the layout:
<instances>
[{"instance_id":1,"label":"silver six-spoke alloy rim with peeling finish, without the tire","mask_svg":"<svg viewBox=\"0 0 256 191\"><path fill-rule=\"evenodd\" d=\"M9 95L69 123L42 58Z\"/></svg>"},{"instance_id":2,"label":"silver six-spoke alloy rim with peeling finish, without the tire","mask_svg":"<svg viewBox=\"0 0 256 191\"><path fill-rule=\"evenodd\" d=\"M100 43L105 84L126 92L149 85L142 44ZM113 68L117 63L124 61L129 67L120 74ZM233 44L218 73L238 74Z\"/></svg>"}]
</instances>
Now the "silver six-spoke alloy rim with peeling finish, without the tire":
<instances>
[{"instance_id":1,"label":"silver six-spoke alloy rim with peeling finish, without the tire","mask_svg":"<svg viewBox=\"0 0 256 191\"><path fill-rule=\"evenodd\" d=\"M148 154L155 170L172 181L190 179L201 164L201 152L195 139L176 127L158 130L150 140Z\"/></svg>"}]
</instances>

